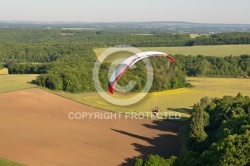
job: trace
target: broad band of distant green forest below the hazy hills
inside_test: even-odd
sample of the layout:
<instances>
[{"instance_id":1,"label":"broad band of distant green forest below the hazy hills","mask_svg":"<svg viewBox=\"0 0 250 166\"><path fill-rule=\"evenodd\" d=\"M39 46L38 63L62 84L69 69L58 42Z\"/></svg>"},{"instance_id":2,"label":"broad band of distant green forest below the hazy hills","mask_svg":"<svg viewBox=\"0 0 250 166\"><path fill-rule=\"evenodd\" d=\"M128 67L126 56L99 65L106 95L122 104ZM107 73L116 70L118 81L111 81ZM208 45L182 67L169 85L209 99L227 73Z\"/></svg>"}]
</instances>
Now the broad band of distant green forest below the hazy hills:
<instances>
[{"instance_id":1,"label":"broad band of distant green forest below the hazy hills","mask_svg":"<svg viewBox=\"0 0 250 166\"><path fill-rule=\"evenodd\" d=\"M0 50L0 61L2 61L2 56L6 54L6 51L9 54L8 57L15 57L14 53L17 52L27 54L25 49L28 49L29 53L41 53L44 55L46 49L44 50L41 48L42 45L53 46L60 44L91 45L95 48L112 47L115 45L130 45L134 47L174 47L250 44L250 33L217 33L191 38L189 34L185 33L172 34L157 32L152 34L133 34L97 30L0 29L0 46L2 48L2 50ZM34 52L30 48L31 45L36 46L38 52ZM14 52L8 52L10 51L10 47ZM29 56L29 54L26 56ZM19 58L16 59L19 60ZM37 61L36 59L34 60Z\"/></svg>"}]
</instances>

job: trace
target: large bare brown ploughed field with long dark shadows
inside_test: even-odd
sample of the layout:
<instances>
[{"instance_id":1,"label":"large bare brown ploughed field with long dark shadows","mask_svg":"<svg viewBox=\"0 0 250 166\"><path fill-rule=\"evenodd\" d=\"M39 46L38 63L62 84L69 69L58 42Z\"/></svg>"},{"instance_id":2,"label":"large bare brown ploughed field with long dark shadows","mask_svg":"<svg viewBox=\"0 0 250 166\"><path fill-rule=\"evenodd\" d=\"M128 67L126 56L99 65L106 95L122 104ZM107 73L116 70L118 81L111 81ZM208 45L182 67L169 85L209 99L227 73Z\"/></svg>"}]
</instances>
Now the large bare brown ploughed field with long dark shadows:
<instances>
[{"instance_id":1,"label":"large bare brown ploughed field with long dark shadows","mask_svg":"<svg viewBox=\"0 0 250 166\"><path fill-rule=\"evenodd\" d=\"M0 156L36 166L112 166L180 151L179 122L70 120L69 112L104 113L40 89L0 94Z\"/></svg>"}]
</instances>

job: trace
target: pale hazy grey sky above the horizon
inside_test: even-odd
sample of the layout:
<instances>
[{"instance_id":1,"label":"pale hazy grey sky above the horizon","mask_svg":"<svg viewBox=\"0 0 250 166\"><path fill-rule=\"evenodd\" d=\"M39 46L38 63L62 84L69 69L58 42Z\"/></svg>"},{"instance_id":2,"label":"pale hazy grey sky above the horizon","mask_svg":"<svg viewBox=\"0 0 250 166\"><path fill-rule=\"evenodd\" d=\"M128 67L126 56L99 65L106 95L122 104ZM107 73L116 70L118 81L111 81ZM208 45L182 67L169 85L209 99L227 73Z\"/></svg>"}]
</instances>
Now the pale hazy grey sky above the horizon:
<instances>
[{"instance_id":1,"label":"pale hazy grey sky above the horizon","mask_svg":"<svg viewBox=\"0 0 250 166\"><path fill-rule=\"evenodd\" d=\"M0 21L250 24L250 0L3 0Z\"/></svg>"}]
</instances>

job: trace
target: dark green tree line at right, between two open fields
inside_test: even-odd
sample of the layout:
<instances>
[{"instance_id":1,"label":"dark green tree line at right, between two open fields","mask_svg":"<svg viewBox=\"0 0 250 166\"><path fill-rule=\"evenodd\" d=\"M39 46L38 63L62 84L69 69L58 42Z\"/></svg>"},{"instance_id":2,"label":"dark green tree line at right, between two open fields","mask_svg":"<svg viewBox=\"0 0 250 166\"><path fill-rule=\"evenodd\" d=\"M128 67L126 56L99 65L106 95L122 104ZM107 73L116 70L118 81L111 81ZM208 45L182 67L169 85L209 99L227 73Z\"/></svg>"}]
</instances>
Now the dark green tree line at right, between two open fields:
<instances>
[{"instance_id":1,"label":"dark green tree line at right, between two open fields","mask_svg":"<svg viewBox=\"0 0 250 166\"><path fill-rule=\"evenodd\" d=\"M184 56L175 55L176 67L194 77L248 77L250 55L241 56Z\"/></svg>"}]
</instances>

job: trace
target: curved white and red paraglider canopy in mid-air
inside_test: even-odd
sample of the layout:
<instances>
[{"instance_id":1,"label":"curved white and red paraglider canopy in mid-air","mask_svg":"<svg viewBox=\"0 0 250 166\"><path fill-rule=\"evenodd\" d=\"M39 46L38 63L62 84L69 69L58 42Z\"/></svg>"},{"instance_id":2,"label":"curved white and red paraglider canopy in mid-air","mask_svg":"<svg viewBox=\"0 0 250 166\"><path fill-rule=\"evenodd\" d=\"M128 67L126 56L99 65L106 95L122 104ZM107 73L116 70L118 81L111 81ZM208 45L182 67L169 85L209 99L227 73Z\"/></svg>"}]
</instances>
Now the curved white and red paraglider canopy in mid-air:
<instances>
[{"instance_id":1,"label":"curved white and red paraglider canopy in mid-air","mask_svg":"<svg viewBox=\"0 0 250 166\"><path fill-rule=\"evenodd\" d=\"M136 62L152 57L152 56L163 56L168 58L172 63L175 63L175 59L163 52L156 52L156 51L149 51L149 52L141 52L136 55L133 55L127 59L125 59L122 63L120 63L113 74L111 75L109 82L108 82L108 91L113 94L115 85L117 84L118 80L122 77L122 75L128 70L131 66L133 66Z\"/></svg>"}]
</instances>

